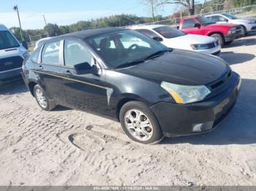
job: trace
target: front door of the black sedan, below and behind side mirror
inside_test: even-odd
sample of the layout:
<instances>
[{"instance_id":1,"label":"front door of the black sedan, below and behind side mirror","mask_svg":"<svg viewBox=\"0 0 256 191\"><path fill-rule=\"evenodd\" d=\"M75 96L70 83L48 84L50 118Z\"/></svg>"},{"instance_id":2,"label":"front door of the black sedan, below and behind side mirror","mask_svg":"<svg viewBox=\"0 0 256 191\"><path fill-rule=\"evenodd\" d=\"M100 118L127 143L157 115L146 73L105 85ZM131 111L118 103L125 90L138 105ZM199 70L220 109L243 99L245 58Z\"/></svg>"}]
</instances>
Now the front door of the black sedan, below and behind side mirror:
<instances>
[{"instance_id":1,"label":"front door of the black sedan, below and behind side mirror","mask_svg":"<svg viewBox=\"0 0 256 191\"><path fill-rule=\"evenodd\" d=\"M67 106L89 112L108 112L107 87L97 61L86 44L75 38L64 40L64 66L61 66ZM78 63L96 64L99 75L76 74L74 65Z\"/></svg>"}]
</instances>

